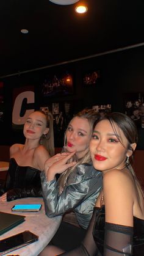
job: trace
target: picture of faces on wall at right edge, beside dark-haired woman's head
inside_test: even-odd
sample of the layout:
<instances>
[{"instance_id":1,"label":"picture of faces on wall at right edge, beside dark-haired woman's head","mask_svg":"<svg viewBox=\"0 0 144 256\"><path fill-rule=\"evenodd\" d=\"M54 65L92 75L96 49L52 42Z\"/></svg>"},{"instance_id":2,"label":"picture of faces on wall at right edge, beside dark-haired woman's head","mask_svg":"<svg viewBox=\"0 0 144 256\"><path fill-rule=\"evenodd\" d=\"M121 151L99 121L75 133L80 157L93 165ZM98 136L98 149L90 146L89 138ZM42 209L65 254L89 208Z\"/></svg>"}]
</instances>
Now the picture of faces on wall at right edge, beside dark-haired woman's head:
<instances>
[{"instance_id":1,"label":"picture of faces on wall at right edge, beside dark-haired woman's head","mask_svg":"<svg viewBox=\"0 0 144 256\"><path fill-rule=\"evenodd\" d=\"M125 93L124 112L137 128L144 128L144 92Z\"/></svg>"}]
</instances>

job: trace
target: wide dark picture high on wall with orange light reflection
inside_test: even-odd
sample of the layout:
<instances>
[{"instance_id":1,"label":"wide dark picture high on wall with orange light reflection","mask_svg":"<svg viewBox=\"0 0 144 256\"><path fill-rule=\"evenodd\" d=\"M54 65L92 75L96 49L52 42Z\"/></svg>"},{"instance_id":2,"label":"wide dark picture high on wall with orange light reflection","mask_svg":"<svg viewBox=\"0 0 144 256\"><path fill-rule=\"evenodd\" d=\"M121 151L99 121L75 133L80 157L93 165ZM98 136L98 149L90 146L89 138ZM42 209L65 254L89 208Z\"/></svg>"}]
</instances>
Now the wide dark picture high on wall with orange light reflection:
<instances>
[{"instance_id":1,"label":"wide dark picture high on wall with orange light reflection","mask_svg":"<svg viewBox=\"0 0 144 256\"><path fill-rule=\"evenodd\" d=\"M52 75L53 74L53 75ZM41 84L42 97L61 97L73 94L73 75L65 71L62 74L50 73Z\"/></svg>"}]
</instances>

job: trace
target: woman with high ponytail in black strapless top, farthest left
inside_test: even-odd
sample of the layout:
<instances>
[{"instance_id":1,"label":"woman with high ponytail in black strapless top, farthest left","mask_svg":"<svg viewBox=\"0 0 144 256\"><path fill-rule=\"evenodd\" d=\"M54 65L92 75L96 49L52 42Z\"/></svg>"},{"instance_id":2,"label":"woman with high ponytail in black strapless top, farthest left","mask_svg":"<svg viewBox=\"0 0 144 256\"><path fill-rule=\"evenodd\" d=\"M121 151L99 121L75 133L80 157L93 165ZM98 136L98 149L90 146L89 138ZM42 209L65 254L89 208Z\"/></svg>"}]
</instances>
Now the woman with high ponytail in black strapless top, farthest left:
<instances>
[{"instance_id":1,"label":"woman with high ponytail in black strapless top, farthest left","mask_svg":"<svg viewBox=\"0 0 144 256\"><path fill-rule=\"evenodd\" d=\"M10 167L0 201L22 197L40 197L40 172L46 159L54 155L53 117L42 111L32 112L23 130L25 144L10 147Z\"/></svg>"}]
</instances>

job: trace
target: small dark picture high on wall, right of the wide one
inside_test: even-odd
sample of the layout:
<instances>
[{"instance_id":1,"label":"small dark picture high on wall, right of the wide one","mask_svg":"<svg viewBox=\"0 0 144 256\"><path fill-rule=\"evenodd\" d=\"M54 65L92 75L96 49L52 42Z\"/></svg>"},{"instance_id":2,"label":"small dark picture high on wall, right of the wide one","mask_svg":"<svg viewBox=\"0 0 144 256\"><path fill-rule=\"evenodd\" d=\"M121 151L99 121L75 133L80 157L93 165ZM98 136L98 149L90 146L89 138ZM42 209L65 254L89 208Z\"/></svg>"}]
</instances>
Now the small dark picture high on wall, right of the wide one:
<instances>
[{"instance_id":1,"label":"small dark picture high on wall, right of the wide one","mask_svg":"<svg viewBox=\"0 0 144 256\"><path fill-rule=\"evenodd\" d=\"M96 86L101 81L100 70L93 70L84 73L83 84L84 86L91 87Z\"/></svg>"}]
</instances>

